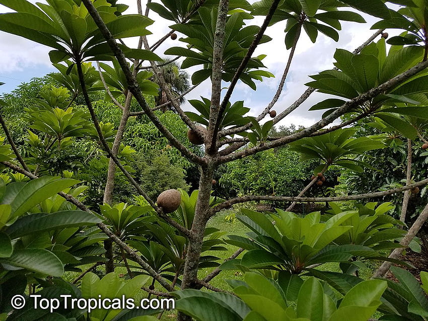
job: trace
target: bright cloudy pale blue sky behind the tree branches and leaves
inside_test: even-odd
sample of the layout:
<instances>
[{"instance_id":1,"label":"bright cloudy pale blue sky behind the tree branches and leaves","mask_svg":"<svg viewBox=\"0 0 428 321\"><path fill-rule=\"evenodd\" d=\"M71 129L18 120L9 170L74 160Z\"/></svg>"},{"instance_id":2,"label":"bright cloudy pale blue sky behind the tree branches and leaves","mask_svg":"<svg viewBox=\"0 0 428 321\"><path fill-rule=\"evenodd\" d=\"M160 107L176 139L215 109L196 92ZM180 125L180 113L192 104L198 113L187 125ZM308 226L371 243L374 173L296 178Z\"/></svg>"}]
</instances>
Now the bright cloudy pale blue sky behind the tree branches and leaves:
<instances>
[{"instance_id":1,"label":"bright cloudy pale blue sky behind the tree branches and leaves","mask_svg":"<svg viewBox=\"0 0 428 321\"><path fill-rule=\"evenodd\" d=\"M35 0L31 0L30 2L36 3ZM42 0L39 2L45 1ZM250 1L250 3L253 2L254 1ZM125 13L136 12L134 0L122 0L119 1L119 3L130 6ZM10 9L0 5L0 13L4 12L10 12ZM377 21L377 18L364 14L362 14L362 16L366 19L367 23L341 23L342 30L339 31L340 38L338 42L320 33L317 42L313 44L306 34L302 32L287 77L286 86L284 86L281 96L273 108L278 114L290 106L307 89L304 84L311 81L309 75L333 67L333 54L336 48L352 51L364 43L376 31L370 30L370 27ZM152 44L170 31L168 26L171 25L172 22L160 18L154 12L151 12L149 17L155 20L155 23L148 27L148 29L153 32L152 35L148 36L149 44ZM247 23L260 26L262 22L263 17L256 17ZM267 54L263 63L267 67L266 70L275 74L275 78L265 78L262 83L256 82L256 91L253 91L240 82L232 96L232 102L244 101L244 105L251 109L249 112L251 116L257 116L266 105L269 104L276 92L283 69L287 63L289 51L286 50L284 45L284 28L285 24L283 22L269 27L266 34L273 38L272 41L260 45L255 52L255 55ZM396 32L389 30L388 33L390 36L396 34ZM156 50L156 53L161 57L165 57L163 53L167 48L171 46L184 46L185 44L179 41L182 35L178 34L178 36L178 39L175 41L168 38L162 46ZM135 39L127 40L127 44L130 46L135 45L135 43ZM5 83L5 85L0 86L0 95L2 93L11 92L19 84L28 82L32 77L40 77L46 73L55 71L56 69L51 65L49 60L49 51L50 48L46 46L0 31L0 82ZM187 71L191 74L195 70L197 70L197 67L189 68ZM223 94L225 92L224 90ZM199 99L200 96L210 97L209 81L203 82L189 93L186 98ZM295 124L310 126L321 118L322 112L308 111L308 109L319 101L326 99L326 97L326 95L321 93L313 93L304 104L279 122L279 125L289 126ZM184 105L184 109L191 109L189 103Z\"/></svg>"}]
</instances>

